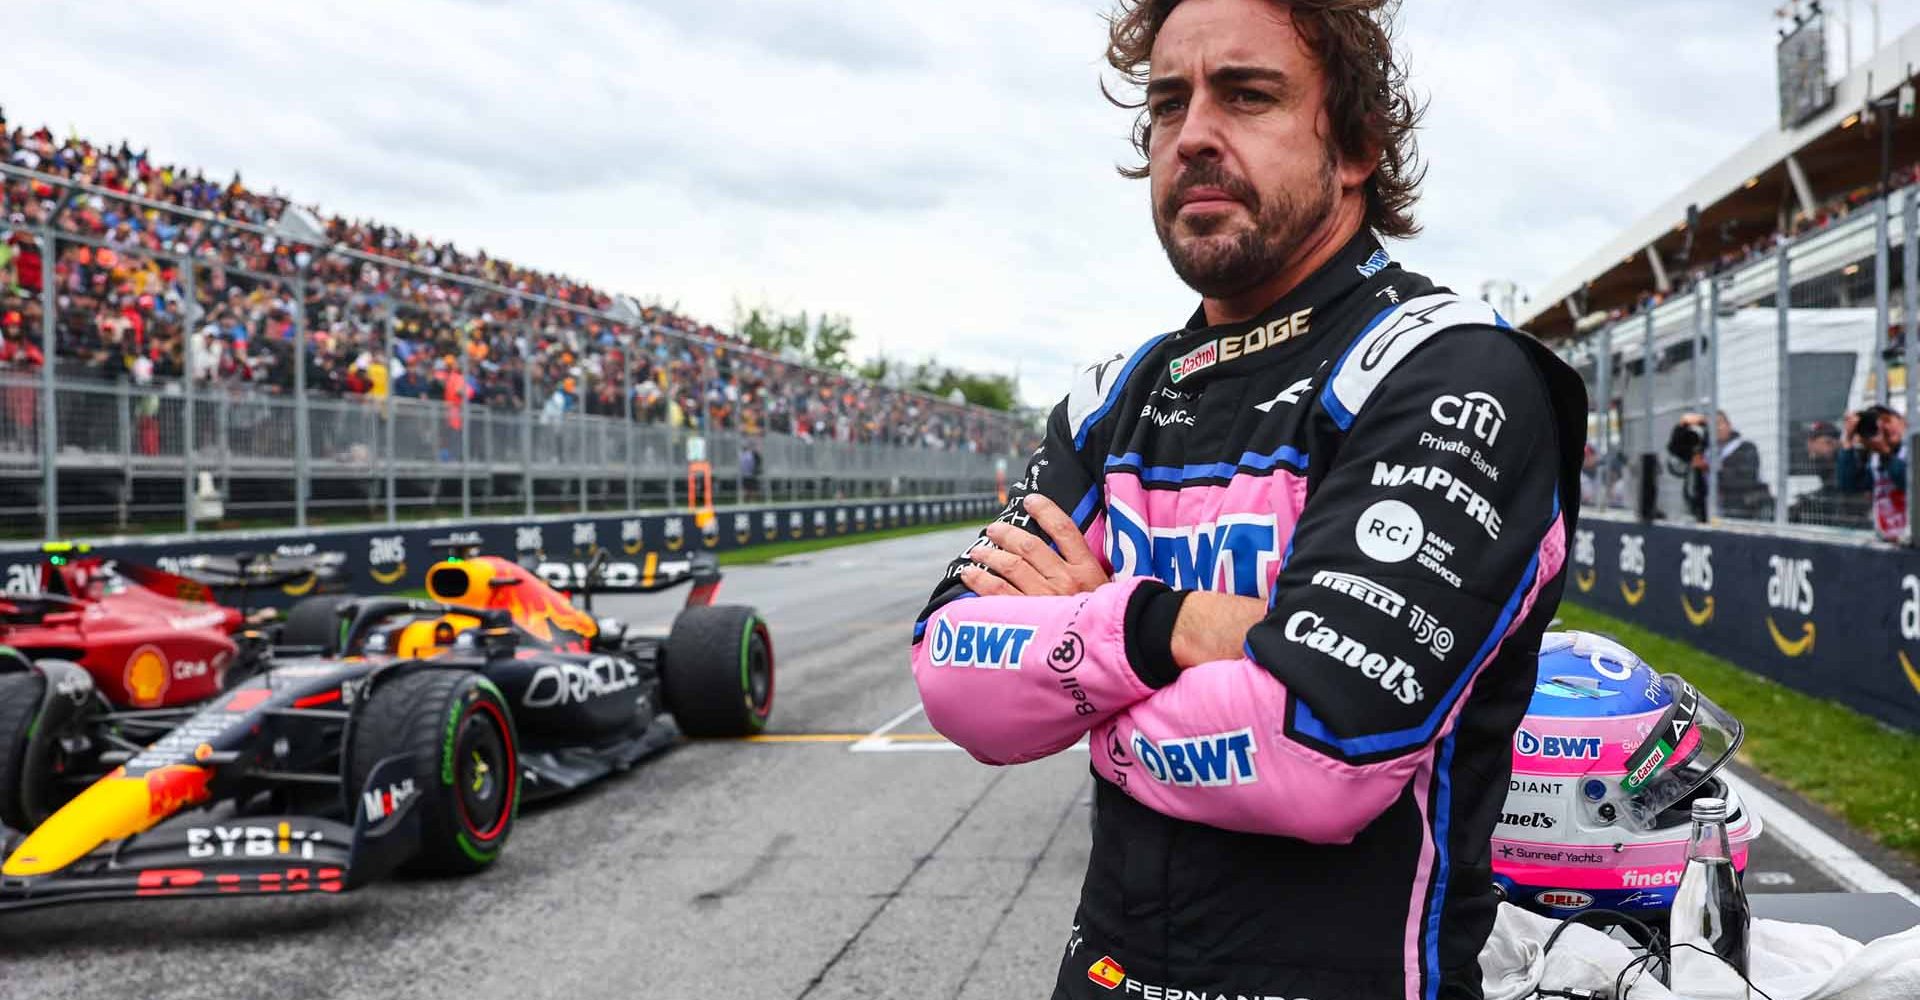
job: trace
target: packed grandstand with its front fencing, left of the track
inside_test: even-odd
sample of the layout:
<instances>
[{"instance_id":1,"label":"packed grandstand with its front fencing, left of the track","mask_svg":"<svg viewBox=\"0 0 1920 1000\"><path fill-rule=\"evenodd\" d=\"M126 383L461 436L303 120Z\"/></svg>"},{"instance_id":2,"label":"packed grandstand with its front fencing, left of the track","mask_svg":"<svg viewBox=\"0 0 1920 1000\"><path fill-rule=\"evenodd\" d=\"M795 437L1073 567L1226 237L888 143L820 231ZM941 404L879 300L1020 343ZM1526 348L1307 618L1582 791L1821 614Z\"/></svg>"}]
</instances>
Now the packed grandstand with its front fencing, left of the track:
<instances>
[{"instance_id":1,"label":"packed grandstand with its front fencing, left of the track","mask_svg":"<svg viewBox=\"0 0 1920 1000\"><path fill-rule=\"evenodd\" d=\"M701 457L720 501L954 495L1031 445L1004 413L4 117L0 338L0 514L48 536L674 505Z\"/></svg>"}]
</instances>

